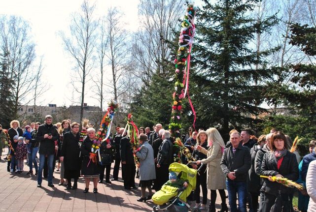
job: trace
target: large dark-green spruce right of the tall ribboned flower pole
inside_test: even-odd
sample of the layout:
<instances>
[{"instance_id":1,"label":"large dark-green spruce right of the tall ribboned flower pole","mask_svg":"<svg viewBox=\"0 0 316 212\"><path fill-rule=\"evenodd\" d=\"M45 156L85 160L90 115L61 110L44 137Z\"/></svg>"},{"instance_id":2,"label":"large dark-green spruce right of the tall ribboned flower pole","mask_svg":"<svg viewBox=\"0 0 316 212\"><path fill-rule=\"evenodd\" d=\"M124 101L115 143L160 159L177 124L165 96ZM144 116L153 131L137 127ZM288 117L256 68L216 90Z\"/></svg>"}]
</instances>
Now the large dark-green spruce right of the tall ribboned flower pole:
<instances>
[{"instance_id":1,"label":"large dark-green spruce right of the tall ribboned flower pole","mask_svg":"<svg viewBox=\"0 0 316 212\"><path fill-rule=\"evenodd\" d=\"M277 19L250 17L259 0L203 0L196 24L193 50L197 70L192 94L200 126L217 127L225 138L232 128L252 127L264 111L264 80L272 77L264 61L271 51L257 52L250 41L267 31ZM259 64L259 65L258 65ZM192 92L191 92L192 93Z\"/></svg>"}]
</instances>

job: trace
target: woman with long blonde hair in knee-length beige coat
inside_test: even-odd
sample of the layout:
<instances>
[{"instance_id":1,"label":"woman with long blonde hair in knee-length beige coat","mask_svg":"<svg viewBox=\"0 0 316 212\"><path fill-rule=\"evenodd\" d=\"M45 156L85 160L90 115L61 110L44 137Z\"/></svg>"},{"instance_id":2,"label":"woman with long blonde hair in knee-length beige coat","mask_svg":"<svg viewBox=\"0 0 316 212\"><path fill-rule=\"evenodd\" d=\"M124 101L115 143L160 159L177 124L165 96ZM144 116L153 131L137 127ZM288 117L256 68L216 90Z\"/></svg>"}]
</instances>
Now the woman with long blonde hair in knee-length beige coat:
<instances>
[{"instance_id":1,"label":"woman with long blonde hair in knee-length beige coat","mask_svg":"<svg viewBox=\"0 0 316 212\"><path fill-rule=\"evenodd\" d=\"M218 190L220 198L222 200L220 212L227 212L226 205L226 194L224 189L226 188L225 184L225 175L220 167L220 161L224 151L224 141L220 136L216 128L209 128L208 133L208 143L209 149L206 150L202 147L197 147L197 149L207 154L208 157L203 160L198 160L197 164L207 164L208 166L208 188L211 189L211 204L209 212L215 212L215 201L216 201L216 190Z\"/></svg>"}]
</instances>

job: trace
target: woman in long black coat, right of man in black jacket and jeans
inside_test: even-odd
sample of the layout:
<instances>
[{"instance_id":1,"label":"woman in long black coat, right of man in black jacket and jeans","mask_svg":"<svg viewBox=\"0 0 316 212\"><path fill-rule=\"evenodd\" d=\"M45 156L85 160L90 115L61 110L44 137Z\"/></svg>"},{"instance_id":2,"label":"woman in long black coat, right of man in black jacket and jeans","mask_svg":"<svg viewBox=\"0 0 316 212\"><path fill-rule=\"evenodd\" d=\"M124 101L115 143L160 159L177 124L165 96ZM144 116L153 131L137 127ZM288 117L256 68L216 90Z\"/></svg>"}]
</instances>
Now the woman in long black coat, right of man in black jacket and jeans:
<instances>
[{"instance_id":1,"label":"woman in long black coat, right of man in black jacket and jeans","mask_svg":"<svg viewBox=\"0 0 316 212\"><path fill-rule=\"evenodd\" d=\"M72 189L77 189L77 181L80 177L80 146L79 146L79 124L73 122L70 132L64 134L63 146L60 160L64 162L65 174L67 179L67 189L71 189L71 178L73 178Z\"/></svg>"}]
</instances>

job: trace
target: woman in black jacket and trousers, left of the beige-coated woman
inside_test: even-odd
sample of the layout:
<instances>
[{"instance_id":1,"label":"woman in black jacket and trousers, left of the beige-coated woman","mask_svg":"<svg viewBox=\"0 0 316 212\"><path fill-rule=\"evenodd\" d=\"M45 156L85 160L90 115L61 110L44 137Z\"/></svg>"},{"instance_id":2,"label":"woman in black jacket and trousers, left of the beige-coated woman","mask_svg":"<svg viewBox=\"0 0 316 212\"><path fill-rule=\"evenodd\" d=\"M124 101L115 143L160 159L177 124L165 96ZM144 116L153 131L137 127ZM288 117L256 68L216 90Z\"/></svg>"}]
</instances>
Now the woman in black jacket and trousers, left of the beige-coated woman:
<instances>
[{"instance_id":1,"label":"woman in black jacket and trousers, left of the beige-coated woman","mask_svg":"<svg viewBox=\"0 0 316 212\"><path fill-rule=\"evenodd\" d=\"M192 153L192 157L195 160L203 160L207 158L207 155L203 152L201 152L201 148L204 149L208 149L208 134L206 131L201 130L197 137L196 137L196 148L194 149L193 153ZM198 164L200 165L200 164ZM197 168L197 166L193 166L193 168ZM196 189L194 191L194 195L195 195L195 209L199 208L200 204L201 204L201 200L200 200L200 185L202 187L202 205L199 208L200 210L205 210L206 208L206 204L208 201L208 185L207 185L207 172L206 172L206 166L203 166L198 175L196 176Z\"/></svg>"}]
</instances>

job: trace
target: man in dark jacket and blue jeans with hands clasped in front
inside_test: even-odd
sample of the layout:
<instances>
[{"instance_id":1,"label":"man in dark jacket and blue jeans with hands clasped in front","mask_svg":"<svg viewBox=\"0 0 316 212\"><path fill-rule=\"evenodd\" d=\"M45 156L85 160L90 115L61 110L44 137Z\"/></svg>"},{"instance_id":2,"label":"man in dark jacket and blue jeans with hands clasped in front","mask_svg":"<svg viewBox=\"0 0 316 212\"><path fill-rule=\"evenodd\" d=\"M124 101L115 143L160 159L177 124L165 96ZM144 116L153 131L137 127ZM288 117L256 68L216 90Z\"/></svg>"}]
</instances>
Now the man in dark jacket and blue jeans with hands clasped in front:
<instances>
[{"instance_id":1,"label":"man in dark jacket and blue jeans with hands clasped in front","mask_svg":"<svg viewBox=\"0 0 316 212\"><path fill-rule=\"evenodd\" d=\"M251 155L247 147L242 145L239 132L230 134L231 146L224 150L221 168L226 175L226 187L228 191L228 201L231 212L237 210L237 194L238 209L240 212L246 212L246 179L248 170L251 165Z\"/></svg>"}]
</instances>

